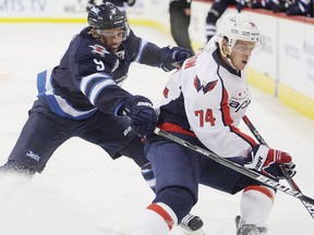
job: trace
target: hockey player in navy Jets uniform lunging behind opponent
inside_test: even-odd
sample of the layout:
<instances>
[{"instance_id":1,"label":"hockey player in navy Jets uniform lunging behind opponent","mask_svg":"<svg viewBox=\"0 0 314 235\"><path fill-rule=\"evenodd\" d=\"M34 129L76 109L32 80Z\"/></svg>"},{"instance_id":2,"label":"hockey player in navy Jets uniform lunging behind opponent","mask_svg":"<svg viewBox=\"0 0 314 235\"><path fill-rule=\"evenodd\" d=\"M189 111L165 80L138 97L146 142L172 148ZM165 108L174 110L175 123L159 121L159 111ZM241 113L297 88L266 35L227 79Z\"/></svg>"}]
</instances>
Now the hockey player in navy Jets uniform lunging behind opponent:
<instances>
[{"instance_id":1,"label":"hockey player in navy Jets uniform lunging behind opponent","mask_svg":"<svg viewBox=\"0 0 314 235\"><path fill-rule=\"evenodd\" d=\"M41 173L71 137L98 145L112 159L125 156L140 168L148 163L138 136L148 137L155 127L153 104L120 85L133 62L170 71L192 52L137 37L111 3L92 7L87 20L89 26L72 39L60 64L38 74L38 99L0 171Z\"/></svg>"}]
</instances>

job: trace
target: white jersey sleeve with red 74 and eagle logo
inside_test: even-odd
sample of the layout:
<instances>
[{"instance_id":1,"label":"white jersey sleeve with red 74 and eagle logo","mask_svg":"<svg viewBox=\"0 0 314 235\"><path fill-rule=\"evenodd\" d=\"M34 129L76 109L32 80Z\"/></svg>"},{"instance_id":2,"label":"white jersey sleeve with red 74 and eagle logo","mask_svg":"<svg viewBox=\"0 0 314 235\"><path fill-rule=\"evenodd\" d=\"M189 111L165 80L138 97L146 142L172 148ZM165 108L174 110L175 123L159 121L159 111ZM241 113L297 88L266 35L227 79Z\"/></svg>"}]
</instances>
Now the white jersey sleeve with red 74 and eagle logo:
<instances>
[{"instance_id":1,"label":"white jersey sleeve with red 74 and eagle logo","mask_svg":"<svg viewBox=\"0 0 314 235\"><path fill-rule=\"evenodd\" d=\"M189 70L189 69L188 69ZM256 143L234 126L228 106L228 90L216 73L215 63L198 66L181 77L185 113L192 131L217 154L246 157Z\"/></svg>"}]
</instances>

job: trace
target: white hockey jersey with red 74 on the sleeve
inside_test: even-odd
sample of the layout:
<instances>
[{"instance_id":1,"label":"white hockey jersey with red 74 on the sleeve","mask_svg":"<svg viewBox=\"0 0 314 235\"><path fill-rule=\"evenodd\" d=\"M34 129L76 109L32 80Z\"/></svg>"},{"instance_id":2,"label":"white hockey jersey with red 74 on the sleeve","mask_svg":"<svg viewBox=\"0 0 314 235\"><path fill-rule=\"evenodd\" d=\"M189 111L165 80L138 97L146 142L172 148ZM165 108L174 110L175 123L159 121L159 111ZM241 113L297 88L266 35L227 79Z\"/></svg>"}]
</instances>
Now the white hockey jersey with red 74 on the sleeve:
<instances>
[{"instance_id":1,"label":"white hockey jersey with red 74 on the sleeve","mask_svg":"<svg viewBox=\"0 0 314 235\"><path fill-rule=\"evenodd\" d=\"M158 110L161 128L190 131L225 158L246 157L257 145L237 127L251 102L245 71L227 65L215 45L186 60L169 78L164 96Z\"/></svg>"}]
</instances>

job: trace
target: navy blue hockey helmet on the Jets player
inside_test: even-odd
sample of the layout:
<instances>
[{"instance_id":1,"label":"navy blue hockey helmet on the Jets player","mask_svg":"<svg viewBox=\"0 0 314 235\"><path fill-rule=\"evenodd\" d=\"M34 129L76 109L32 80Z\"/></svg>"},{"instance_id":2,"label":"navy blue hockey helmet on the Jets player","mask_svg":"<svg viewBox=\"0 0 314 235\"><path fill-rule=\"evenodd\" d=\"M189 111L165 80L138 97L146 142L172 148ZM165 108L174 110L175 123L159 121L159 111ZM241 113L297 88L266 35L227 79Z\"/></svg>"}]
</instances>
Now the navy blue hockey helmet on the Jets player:
<instances>
[{"instance_id":1,"label":"navy blue hockey helmet on the Jets player","mask_svg":"<svg viewBox=\"0 0 314 235\"><path fill-rule=\"evenodd\" d=\"M88 11L87 22L95 29L128 27L124 14L110 2L93 5Z\"/></svg>"}]
</instances>

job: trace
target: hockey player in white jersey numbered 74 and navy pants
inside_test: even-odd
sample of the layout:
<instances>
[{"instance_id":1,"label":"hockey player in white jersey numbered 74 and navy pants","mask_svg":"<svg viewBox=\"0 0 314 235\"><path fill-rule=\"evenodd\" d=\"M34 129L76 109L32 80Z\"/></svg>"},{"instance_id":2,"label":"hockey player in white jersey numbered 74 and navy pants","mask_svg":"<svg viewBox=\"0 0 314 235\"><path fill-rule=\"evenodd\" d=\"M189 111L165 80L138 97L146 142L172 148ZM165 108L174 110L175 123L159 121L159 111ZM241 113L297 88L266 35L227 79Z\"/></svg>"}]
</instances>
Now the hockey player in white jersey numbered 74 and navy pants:
<instances>
[{"instance_id":1,"label":"hockey player in white jersey numbered 74 and navy pants","mask_svg":"<svg viewBox=\"0 0 314 235\"><path fill-rule=\"evenodd\" d=\"M245 66L261 45L259 37L249 15L227 15L219 36L170 77L157 125L279 181L280 166L290 176L295 174L291 157L258 145L237 127L251 101ZM159 136L150 137L145 150L157 180L156 197L141 214L134 235L168 235L197 202L198 184L231 195L242 191L237 234L267 233L273 188Z\"/></svg>"}]
</instances>

